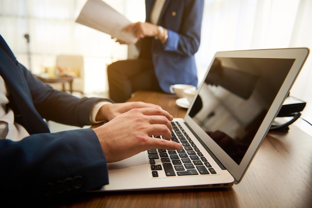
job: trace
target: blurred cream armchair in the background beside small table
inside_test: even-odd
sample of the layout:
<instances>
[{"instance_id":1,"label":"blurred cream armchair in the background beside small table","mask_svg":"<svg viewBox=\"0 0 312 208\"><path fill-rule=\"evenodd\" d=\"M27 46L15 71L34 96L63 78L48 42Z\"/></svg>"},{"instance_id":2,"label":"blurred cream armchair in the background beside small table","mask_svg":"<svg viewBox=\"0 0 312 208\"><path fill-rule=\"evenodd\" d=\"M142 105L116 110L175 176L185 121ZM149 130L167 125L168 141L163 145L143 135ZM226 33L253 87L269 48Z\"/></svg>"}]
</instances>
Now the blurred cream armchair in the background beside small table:
<instances>
[{"instance_id":1,"label":"blurred cream armchair in the background beside small table","mask_svg":"<svg viewBox=\"0 0 312 208\"><path fill-rule=\"evenodd\" d=\"M58 55L56 57L55 74L73 76L72 91L84 94L84 60L81 55ZM54 89L61 90L61 85L51 84ZM69 88L69 86L68 86ZM68 89L65 86L65 90ZM68 91L68 90L66 90Z\"/></svg>"}]
</instances>

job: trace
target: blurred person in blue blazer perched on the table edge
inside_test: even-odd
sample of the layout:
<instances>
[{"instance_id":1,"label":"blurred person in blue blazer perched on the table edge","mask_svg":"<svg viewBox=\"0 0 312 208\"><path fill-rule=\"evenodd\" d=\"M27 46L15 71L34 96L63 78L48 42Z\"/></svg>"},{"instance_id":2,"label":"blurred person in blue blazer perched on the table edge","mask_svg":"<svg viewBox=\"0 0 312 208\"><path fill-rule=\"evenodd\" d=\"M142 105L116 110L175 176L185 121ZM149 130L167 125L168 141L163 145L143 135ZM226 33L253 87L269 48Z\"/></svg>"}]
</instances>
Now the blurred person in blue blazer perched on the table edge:
<instances>
[{"instance_id":1,"label":"blurred person in blue blazer perched on the table edge","mask_svg":"<svg viewBox=\"0 0 312 208\"><path fill-rule=\"evenodd\" d=\"M124 102L137 90L170 93L172 84L197 87L194 54L200 44L203 7L204 0L146 0L146 22L126 29L140 39L139 58L108 66L110 98Z\"/></svg>"}]
</instances>

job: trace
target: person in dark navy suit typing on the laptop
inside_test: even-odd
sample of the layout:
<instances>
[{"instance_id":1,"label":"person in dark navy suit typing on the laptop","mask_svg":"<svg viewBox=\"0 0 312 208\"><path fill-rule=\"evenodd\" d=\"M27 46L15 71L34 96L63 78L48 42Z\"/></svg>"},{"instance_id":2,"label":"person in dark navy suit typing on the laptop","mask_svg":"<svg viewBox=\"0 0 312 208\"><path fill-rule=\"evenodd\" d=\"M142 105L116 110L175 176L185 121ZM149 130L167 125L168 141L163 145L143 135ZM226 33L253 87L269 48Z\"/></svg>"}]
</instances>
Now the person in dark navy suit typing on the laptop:
<instances>
[{"instance_id":1,"label":"person in dark navy suit typing on the laptop","mask_svg":"<svg viewBox=\"0 0 312 208\"><path fill-rule=\"evenodd\" d=\"M172 126L169 120L172 116L167 112L142 102L112 104L108 101L103 98L80 99L42 83L18 63L0 35L1 205L10 197L14 199L10 203L24 203L22 196L34 202L41 196L95 189L109 183L109 162L123 160L152 146L159 148L161 144L162 149L181 148L173 141L161 142L148 136L152 130L156 135L170 138ZM141 121L147 123L136 122L138 116L144 117ZM159 120L159 116L162 119ZM163 117L167 122L163 122ZM74 126L108 122L95 129L50 133L44 118ZM151 125L150 119L158 125ZM13 128L10 123L18 126L17 132L26 135L20 138L15 134L11 138ZM167 130L164 131L159 124L166 125ZM140 126L150 132L134 130ZM132 130L131 138L129 133L122 133L127 129ZM138 139L142 135L148 138L145 142Z\"/></svg>"}]
</instances>

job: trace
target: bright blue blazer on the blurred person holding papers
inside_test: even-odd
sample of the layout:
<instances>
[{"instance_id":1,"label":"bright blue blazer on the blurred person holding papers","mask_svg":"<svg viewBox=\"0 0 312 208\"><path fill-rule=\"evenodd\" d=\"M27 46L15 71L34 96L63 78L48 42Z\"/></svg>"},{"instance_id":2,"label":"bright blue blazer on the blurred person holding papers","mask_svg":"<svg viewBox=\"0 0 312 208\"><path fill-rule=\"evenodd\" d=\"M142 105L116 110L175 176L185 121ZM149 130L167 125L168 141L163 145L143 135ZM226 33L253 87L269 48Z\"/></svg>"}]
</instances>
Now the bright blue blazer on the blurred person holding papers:
<instances>
[{"instance_id":1,"label":"bright blue blazer on the blurred person holding papers","mask_svg":"<svg viewBox=\"0 0 312 208\"><path fill-rule=\"evenodd\" d=\"M146 21L154 0L146 0ZM194 54L200 44L204 0L166 0L157 25L168 30L165 44L152 42L152 58L161 89L170 93L171 84L191 84L197 87Z\"/></svg>"}]
</instances>

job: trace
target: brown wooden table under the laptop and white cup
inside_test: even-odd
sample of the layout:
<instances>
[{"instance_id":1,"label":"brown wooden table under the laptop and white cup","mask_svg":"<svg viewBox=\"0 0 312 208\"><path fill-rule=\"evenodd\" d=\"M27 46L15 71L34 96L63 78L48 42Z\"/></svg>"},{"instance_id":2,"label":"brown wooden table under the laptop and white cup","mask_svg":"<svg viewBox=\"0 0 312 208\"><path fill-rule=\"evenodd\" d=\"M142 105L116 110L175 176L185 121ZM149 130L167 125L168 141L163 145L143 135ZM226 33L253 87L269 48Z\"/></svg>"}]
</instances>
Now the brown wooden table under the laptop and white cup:
<instances>
[{"instance_id":1,"label":"brown wooden table under the laptop and white cup","mask_svg":"<svg viewBox=\"0 0 312 208\"><path fill-rule=\"evenodd\" d=\"M186 110L176 97L136 92L129 101L160 105L174 117ZM61 208L312 208L312 136L292 125L269 134L242 182L227 189L89 193L60 202Z\"/></svg>"}]
</instances>

